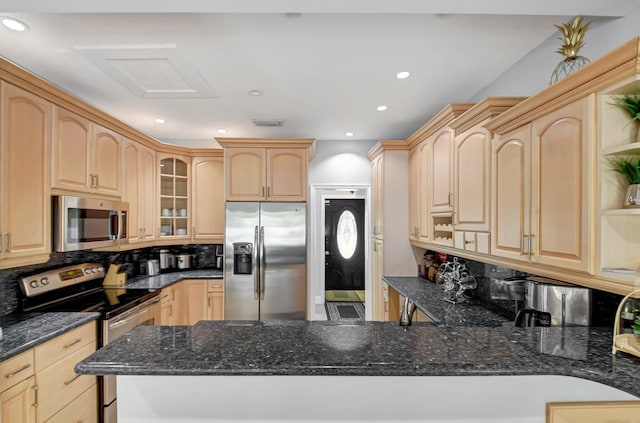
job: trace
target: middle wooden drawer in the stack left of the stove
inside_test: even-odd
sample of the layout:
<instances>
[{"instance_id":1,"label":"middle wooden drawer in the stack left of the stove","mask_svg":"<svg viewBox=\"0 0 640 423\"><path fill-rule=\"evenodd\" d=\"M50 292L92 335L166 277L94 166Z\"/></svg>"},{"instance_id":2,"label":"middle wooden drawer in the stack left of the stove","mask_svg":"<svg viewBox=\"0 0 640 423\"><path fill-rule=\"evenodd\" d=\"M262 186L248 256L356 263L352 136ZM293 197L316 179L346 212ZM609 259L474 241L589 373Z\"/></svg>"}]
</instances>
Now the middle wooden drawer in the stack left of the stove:
<instances>
[{"instance_id":1,"label":"middle wooden drawer in the stack left of the stove","mask_svg":"<svg viewBox=\"0 0 640 423\"><path fill-rule=\"evenodd\" d=\"M38 421L46 421L66 404L96 383L96 377L78 375L73 370L76 364L96 350L89 344L68 355L54 366L38 372Z\"/></svg>"}]
</instances>

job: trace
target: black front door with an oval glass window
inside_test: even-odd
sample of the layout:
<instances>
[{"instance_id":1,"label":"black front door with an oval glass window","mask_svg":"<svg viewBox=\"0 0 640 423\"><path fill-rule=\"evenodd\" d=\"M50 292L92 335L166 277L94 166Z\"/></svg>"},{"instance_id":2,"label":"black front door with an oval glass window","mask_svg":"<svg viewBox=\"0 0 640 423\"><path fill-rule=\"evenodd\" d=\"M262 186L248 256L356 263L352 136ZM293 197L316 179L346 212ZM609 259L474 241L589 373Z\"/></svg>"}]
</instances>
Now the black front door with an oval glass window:
<instances>
[{"instance_id":1,"label":"black front door with an oval glass window","mask_svg":"<svg viewBox=\"0 0 640 423\"><path fill-rule=\"evenodd\" d=\"M325 289L364 289L364 200L325 200Z\"/></svg>"}]
</instances>

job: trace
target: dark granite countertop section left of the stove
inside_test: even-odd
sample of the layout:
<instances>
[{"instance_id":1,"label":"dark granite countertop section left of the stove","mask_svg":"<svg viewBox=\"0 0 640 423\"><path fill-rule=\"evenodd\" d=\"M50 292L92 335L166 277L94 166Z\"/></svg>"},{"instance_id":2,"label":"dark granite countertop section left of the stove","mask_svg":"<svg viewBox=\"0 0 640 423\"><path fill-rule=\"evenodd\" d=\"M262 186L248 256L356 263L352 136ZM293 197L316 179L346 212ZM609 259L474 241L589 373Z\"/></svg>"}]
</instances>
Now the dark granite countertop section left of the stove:
<instances>
[{"instance_id":1,"label":"dark granite countertop section left of the stove","mask_svg":"<svg viewBox=\"0 0 640 423\"><path fill-rule=\"evenodd\" d=\"M100 317L100 313L42 313L3 323L0 361L20 354L49 339Z\"/></svg>"}]
</instances>

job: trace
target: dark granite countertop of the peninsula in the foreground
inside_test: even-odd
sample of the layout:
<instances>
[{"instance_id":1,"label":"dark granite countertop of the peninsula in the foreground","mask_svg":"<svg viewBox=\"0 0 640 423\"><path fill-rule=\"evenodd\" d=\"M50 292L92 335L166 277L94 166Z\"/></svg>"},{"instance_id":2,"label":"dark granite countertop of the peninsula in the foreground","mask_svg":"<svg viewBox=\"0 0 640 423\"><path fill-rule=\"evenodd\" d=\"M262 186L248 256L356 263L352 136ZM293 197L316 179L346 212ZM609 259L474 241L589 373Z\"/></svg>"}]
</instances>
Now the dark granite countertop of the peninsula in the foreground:
<instances>
[{"instance_id":1,"label":"dark granite countertop of the peninsula in the foreground","mask_svg":"<svg viewBox=\"0 0 640 423\"><path fill-rule=\"evenodd\" d=\"M565 375L640 397L640 359L599 328L202 321L140 326L76 366L115 375Z\"/></svg>"}]
</instances>

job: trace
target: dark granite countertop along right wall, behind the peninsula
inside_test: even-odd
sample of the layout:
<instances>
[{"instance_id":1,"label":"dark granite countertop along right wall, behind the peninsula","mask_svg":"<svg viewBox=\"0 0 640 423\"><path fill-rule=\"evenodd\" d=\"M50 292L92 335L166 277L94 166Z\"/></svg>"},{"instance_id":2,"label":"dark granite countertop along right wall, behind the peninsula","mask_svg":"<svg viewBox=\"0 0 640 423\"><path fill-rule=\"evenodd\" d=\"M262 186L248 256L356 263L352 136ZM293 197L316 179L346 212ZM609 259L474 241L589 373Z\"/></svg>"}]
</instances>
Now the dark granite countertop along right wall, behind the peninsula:
<instances>
[{"instance_id":1,"label":"dark granite countertop along right wall, behind the peninsula","mask_svg":"<svg viewBox=\"0 0 640 423\"><path fill-rule=\"evenodd\" d=\"M442 285L417 276L384 276L383 280L408 297L416 307L440 326L503 326L509 319L487 308L487 304L471 300L468 304L444 301Z\"/></svg>"}]
</instances>

